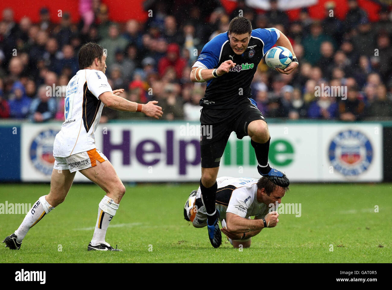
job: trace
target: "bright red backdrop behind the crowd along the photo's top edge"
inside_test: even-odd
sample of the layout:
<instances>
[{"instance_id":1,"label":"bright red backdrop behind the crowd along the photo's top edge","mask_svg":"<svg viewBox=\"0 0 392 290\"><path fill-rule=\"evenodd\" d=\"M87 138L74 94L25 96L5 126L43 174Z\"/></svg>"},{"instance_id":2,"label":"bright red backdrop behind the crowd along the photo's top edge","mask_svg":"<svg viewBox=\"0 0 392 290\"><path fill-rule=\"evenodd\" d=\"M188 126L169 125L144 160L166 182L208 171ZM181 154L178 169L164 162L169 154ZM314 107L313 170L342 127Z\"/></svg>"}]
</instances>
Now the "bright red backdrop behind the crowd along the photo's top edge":
<instances>
[{"instance_id":1,"label":"bright red backdrop behind the crowd along the photo's top edge","mask_svg":"<svg viewBox=\"0 0 392 290\"><path fill-rule=\"evenodd\" d=\"M317 5L309 7L310 17L315 19L324 18L324 4L330 0L319 0ZM77 22L80 20L79 14L79 0L35 0L35 1L0 1L0 11L7 7L11 7L14 11L15 20L19 21L24 16L28 16L33 22L40 20L39 11L42 7L47 7L51 15L51 21L54 23L60 22L58 17L59 10L71 13L71 20ZM344 19L348 5L347 0L335 0L336 8L334 13L340 19ZM136 19L138 21L145 21L147 19L147 12L143 10L143 0L102 0L102 3L109 7L109 18L113 21L125 22L129 19ZM236 2L230 0L221 0L223 7L228 13L236 9ZM378 20L378 11L380 5L371 0L358 0L359 6L364 9L370 21ZM290 20L298 19L301 9L294 9L287 11ZM262 12L262 11L259 11Z\"/></svg>"}]
</instances>

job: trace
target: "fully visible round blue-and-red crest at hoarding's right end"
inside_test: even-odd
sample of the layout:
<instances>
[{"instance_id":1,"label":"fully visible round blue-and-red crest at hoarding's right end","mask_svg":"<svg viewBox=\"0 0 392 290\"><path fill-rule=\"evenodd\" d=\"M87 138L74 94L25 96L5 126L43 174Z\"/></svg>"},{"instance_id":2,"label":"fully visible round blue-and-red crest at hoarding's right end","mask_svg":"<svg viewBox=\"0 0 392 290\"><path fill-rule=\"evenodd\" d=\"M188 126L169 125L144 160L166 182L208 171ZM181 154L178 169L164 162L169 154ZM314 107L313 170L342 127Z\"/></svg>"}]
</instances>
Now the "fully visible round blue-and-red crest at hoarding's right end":
<instances>
[{"instance_id":1,"label":"fully visible round blue-and-red crest at hoarding's right end","mask_svg":"<svg viewBox=\"0 0 392 290\"><path fill-rule=\"evenodd\" d=\"M373 159L373 146L360 131L339 132L329 144L328 158L334 169L345 176L365 172Z\"/></svg>"}]
</instances>

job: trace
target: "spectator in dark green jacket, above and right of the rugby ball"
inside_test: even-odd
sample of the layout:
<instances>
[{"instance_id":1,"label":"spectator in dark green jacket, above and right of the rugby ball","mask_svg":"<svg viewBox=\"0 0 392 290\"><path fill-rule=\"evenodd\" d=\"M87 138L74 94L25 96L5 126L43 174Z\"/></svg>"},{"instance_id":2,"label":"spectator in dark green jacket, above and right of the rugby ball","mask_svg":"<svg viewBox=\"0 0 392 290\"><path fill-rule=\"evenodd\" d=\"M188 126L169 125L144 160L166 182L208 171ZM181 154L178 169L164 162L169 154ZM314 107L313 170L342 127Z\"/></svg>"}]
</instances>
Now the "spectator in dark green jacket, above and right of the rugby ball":
<instances>
[{"instance_id":1,"label":"spectator in dark green jacket, above and right of the rugby ball","mask_svg":"<svg viewBox=\"0 0 392 290\"><path fill-rule=\"evenodd\" d=\"M324 41L330 41L333 43L329 36L323 34L323 28L320 22L315 21L310 28L310 35L303 40L303 48L305 49L304 58L309 61L310 64L316 64L320 57L320 46Z\"/></svg>"}]
</instances>

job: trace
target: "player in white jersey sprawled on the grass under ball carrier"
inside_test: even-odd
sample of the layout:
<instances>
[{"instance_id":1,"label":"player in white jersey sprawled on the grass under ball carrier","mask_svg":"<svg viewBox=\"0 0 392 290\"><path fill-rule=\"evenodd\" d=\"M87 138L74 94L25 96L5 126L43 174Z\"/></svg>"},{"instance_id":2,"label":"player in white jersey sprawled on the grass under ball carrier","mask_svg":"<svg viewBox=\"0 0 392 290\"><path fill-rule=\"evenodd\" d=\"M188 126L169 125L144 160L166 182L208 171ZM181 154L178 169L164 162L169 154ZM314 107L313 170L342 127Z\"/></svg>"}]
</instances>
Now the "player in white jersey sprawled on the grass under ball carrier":
<instances>
[{"instance_id":1,"label":"player in white jersey sprawled on the grass under ball carrier","mask_svg":"<svg viewBox=\"0 0 392 290\"><path fill-rule=\"evenodd\" d=\"M276 202L289 190L274 184L268 177L236 178L219 177L216 179L215 206L220 212L221 231L234 248L250 247L252 236L265 227L275 227L279 214L274 211ZM207 226L207 211L201 196L200 186L191 192L184 206L184 218L194 227ZM254 219L250 219L254 217ZM219 247L219 245L218 245Z\"/></svg>"}]
</instances>

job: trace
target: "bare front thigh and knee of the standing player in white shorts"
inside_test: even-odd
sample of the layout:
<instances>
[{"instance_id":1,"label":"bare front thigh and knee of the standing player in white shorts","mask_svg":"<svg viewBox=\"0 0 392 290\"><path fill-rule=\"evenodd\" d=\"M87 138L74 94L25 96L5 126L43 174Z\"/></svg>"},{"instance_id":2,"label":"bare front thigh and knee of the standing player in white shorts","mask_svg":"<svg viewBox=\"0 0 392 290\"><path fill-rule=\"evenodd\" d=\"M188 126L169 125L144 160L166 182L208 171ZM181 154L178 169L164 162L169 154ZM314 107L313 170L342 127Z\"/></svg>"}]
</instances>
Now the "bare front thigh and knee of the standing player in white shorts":
<instances>
[{"instance_id":1,"label":"bare front thigh and knee of the standing player in white shorts","mask_svg":"<svg viewBox=\"0 0 392 290\"><path fill-rule=\"evenodd\" d=\"M80 170L80 173L100 186L114 202L120 201L125 193L125 187L109 160L97 161L95 166Z\"/></svg>"}]
</instances>

